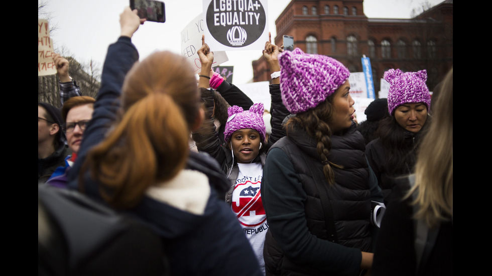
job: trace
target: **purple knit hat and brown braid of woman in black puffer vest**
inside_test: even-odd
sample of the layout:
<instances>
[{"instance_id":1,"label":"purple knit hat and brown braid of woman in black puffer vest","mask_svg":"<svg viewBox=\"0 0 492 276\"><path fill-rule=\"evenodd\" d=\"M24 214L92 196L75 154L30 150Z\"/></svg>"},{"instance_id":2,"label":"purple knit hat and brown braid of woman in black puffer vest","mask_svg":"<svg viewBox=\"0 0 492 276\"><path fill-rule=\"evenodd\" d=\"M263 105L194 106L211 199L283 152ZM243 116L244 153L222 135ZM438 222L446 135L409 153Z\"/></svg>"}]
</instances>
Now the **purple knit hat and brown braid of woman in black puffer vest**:
<instances>
[{"instance_id":1,"label":"purple knit hat and brown braid of woman in black puffer vest","mask_svg":"<svg viewBox=\"0 0 492 276\"><path fill-rule=\"evenodd\" d=\"M332 184L332 167L339 168L328 161L333 134L331 124L335 118L333 95L348 80L350 72L333 58L305 54L298 48L292 52L284 51L279 56L279 63L282 102L289 112L296 114L287 122L287 135L297 125L316 139L324 175Z\"/></svg>"}]
</instances>

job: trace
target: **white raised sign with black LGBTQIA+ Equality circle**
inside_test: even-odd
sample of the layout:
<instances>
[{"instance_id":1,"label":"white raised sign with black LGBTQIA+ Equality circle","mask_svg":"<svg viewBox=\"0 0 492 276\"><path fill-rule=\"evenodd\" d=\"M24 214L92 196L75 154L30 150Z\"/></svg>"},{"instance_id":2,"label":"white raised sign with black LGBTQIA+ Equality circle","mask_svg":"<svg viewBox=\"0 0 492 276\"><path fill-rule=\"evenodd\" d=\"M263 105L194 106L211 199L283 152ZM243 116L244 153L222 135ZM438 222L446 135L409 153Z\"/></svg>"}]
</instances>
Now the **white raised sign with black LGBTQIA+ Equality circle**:
<instances>
[{"instance_id":1,"label":"white raised sign with black LGBTQIA+ Equality circle","mask_svg":"<svg viewBox=\"0 0 492 276\"><path fill-rule=\"evenodd\" d=\"M267 0L203 0L210 49L263 50L268 41Z\"/></svg>"}]
</instances>

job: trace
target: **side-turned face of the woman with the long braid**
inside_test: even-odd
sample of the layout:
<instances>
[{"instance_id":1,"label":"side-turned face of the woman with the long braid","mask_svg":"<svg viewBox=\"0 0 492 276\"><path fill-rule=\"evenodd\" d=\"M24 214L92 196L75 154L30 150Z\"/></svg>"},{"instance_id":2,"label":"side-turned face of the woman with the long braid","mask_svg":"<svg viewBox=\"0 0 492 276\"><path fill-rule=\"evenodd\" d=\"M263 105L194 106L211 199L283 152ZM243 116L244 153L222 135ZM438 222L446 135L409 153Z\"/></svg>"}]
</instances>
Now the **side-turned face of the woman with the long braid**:
<instances>
[{"instance_id":1,"label":"side-turned face of the woman with the long braid","mask_svg":"<svg viewBox=\"0 0 492 276\"><path fill-rule=\"evenodd\" d=\"M345 81L333 94L333 109L334 115L331 123L333 132L349 128L352 124L355 109L353 104L355 103L350 97L348 91L350 90L350 83Z\"/></svg>"}]
</instances>

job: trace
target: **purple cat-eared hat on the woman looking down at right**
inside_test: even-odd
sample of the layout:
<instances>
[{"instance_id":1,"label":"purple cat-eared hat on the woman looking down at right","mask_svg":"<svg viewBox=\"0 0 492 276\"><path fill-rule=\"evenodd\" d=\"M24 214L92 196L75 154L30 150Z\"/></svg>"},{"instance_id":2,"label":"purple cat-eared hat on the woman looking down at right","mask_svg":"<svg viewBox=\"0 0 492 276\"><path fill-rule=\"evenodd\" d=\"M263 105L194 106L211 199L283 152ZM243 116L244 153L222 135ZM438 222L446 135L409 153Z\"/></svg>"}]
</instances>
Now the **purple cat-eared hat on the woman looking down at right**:
<instances>
[{"instance_id":1,"label":"purple cat-eared hat on the woman looking down at right","mask_svg":"<svg viewBox=\"0 0 492 276\"><path fill-rule=\"evenodd\" d=\"M388 92L388 111L393 111L406 103L424 103L430 108L429 88L425 85L427 71L403 73L400 69L385 72L385 80L390 83Z\"/></svg>"}]
</instances>

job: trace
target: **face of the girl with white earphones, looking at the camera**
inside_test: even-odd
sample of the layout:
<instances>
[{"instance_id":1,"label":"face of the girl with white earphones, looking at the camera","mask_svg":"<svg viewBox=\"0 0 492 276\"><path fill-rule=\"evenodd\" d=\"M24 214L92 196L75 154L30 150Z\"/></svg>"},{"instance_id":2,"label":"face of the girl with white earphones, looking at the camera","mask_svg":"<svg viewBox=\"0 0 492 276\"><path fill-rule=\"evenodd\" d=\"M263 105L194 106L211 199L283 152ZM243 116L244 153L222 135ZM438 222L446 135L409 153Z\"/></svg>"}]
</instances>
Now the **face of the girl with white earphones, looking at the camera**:
<instances>
[{"instance_id":1,"label":"face of the girl with white earphones, looking at the camera","mask_svg":"<svg viewBox=\"0 0 492 276\"><path fill-rule=\"evenodd\" d=\"M261 138L258 131L242 128L232 133L230 147L237 163L251 163L260 153Z\"/></svg>"}]
</instances>

